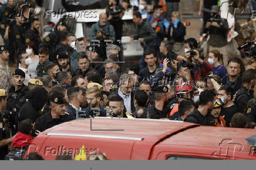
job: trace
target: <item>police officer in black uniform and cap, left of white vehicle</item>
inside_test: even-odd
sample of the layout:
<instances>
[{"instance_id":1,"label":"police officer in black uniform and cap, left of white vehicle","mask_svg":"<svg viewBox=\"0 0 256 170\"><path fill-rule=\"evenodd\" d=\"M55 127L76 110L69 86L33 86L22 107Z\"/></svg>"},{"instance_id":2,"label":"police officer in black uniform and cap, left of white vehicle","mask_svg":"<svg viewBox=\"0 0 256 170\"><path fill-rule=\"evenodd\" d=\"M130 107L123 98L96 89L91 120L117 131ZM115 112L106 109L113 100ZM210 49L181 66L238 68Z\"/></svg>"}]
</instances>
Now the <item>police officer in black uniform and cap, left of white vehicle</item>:
<instances>
[{"instance_id":1,"label":"police officer in black uniform and cap, left of white vehicle","mask_svg":"<svg viewBox=\"0 0 256 170\"><path fill-rule=\"evenodd\" d=\"M67 29L66 22L63 19L57 23L55 30L43 39L41 47L48 47L49 49L49 60L51 62L56 61L56 45L59 43L59 33Z\"/></svg>"}]
</instances>

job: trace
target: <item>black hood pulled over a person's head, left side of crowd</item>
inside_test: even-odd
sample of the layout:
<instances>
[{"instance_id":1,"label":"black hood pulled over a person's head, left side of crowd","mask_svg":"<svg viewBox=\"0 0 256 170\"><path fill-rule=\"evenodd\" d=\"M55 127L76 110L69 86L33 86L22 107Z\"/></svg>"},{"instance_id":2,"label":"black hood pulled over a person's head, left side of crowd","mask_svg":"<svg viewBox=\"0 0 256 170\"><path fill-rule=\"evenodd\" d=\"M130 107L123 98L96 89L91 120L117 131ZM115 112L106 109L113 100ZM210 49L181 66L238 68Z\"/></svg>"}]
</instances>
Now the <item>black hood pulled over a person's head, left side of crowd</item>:
<instances>
[{"instance_id":1,"label":"black hood pulled over a person's head, left side of crowd","mask_svg":"<svg viewBox=\"0 0 256 170\"><path fill-rule=\"evenodd\" d=\"M48 92L42 87L36 87L29 94L29 102L36 110L41 110L47 101Z\"/></svg>"}]
</instances>

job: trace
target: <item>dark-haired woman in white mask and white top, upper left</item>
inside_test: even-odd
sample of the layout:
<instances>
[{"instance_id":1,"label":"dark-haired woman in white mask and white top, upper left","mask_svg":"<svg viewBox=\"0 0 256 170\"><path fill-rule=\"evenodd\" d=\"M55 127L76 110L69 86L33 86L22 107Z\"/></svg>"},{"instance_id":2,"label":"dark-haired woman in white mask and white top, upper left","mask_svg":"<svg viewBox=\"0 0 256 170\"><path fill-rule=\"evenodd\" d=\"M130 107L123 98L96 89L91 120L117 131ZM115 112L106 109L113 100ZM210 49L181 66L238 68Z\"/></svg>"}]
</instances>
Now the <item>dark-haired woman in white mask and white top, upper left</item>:
<instances>
[{"instance_id":1,"label":"dark-haired woman in white mask and white top, upper left","mask_svg":"<svg viewBox=\"0 0 256 170\"><path fill-rule=\"evenodd\" d=\"M28 64L28 72L31 79L37 77L36 67L39 64L39 56L35 55L36 46L34 42L26 43L26 53L28 53L31 58L31 62Z\"/></svg>"}]
</instances>

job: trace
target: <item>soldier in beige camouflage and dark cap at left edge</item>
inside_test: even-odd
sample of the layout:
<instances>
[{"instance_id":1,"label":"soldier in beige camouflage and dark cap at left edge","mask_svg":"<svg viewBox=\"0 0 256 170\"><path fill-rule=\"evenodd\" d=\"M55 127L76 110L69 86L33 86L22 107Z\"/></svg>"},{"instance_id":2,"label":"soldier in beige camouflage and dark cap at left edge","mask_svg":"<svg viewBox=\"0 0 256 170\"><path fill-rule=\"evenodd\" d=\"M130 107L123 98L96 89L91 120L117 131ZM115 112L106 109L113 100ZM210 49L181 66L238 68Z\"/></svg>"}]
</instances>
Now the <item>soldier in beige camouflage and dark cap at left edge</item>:
<instances>
[{"instance_id":1,"label":"soldier in beige camouflage and dark cap at left edge","mask_svg":"<svg viewBox=\"0 0 256 170\"><path fill-rule=\"evenodd\" d=\"M11 88L11 71L6 62L9 60L9 52L5 46L0 46L0 89L7 91Z\"/></svg>"}]
</instances>

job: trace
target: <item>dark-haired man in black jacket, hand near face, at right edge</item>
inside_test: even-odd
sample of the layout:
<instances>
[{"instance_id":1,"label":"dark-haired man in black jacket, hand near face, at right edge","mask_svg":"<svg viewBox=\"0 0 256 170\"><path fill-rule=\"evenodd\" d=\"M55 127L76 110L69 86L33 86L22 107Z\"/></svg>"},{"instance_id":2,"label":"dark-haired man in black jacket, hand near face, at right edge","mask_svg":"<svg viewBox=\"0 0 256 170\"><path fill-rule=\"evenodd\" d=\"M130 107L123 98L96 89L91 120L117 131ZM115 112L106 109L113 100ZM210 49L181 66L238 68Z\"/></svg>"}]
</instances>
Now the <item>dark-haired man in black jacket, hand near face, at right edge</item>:
<instances>
[{"instance_id":1,"label":"dark-haired man in black jacket, hand near face, at right edge","mask_svg":"<svg viewBox=\"0 0 256 170\"><path fill-rule=\"evenodd\" d=\"M240 113L244 113L248 101L254 98L255 74L253 69L246 70L242 74L242 87L237 91L234 101Z\"/></svg>"}]
</instances>

